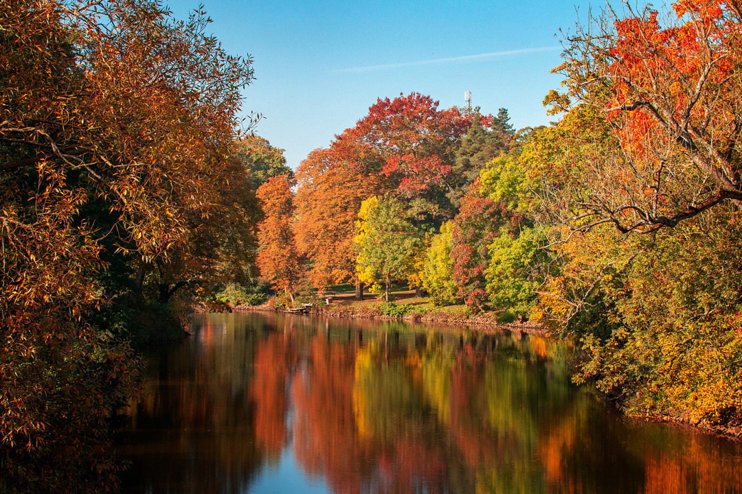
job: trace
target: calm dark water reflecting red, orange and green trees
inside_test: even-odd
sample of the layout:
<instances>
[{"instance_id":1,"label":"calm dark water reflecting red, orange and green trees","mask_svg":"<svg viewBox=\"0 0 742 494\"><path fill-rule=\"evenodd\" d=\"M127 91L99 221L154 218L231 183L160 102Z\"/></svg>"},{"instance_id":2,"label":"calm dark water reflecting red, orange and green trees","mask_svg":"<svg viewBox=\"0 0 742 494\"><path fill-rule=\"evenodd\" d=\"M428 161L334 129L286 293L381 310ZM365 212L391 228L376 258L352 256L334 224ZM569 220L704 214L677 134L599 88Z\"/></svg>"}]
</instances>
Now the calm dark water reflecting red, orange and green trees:
<instances>
[{"instance_id":1,"label":"calm dark water reflecting red, orange and green trees","mask_svg":"<svg viewBox=\"0 0 742 494\"><path fill-rule=\"evenodd\" d=\"M197 316L148 358L125 493L742 493L742 447L622 419L573 349L401 323Z\"/></svg>"}]
</instances>

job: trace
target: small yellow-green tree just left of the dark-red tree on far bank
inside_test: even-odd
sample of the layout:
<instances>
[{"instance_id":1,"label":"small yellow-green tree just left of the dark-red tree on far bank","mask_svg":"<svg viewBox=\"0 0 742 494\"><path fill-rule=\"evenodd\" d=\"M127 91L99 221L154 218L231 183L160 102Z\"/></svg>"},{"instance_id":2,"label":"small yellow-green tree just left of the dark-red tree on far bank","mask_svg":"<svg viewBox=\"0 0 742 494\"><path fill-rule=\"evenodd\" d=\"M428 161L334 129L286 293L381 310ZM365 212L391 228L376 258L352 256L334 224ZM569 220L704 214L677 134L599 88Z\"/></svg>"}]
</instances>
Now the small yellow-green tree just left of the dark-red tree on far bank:
<instances>
[{"instance_id":1,"label":"small yellow-green tree just left of the dark-red tree on far bank","mask_svg":"<svg viewBox=\"0 0 742 494\"><path fill-rule=\"evenodd\" d=\"M456 284L453 282L453 260L451 244L453 224L450 221L441 226L441 231L433 237L426 251L422 270L422 286L430 293L434 305L456 304Z\"/></svg>"}]
</instances>

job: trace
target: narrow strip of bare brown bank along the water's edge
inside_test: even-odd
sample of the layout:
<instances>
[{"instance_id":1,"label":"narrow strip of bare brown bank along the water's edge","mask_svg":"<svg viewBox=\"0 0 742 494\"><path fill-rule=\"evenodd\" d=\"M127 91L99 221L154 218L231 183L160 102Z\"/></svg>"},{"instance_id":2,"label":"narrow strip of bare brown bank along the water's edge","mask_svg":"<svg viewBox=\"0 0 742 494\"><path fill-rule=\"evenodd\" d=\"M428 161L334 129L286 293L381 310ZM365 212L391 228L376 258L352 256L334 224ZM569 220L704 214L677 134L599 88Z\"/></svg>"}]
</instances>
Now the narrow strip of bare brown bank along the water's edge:
<instances>
[{"instance_id":1,"label":"narrow strip of bare brown bank along the water's edge","mask_svg":"<svg viewBox=\"0 0 742 494\"><path fill-rule=\"evenodd\" d=\"M271 304L260 306L237 305L230 306L233 312L272 312L287 313L285 310L278 310ZM197 311L200 312L200 311ZM441 327L458 327L469 330L481 331L482 333L522 333L533 336L552 336L550 331L535 321L511 322L502 324L496 321L494 316L482 314L476 316L453 316L444 313L432 314L411 314L407 316L387 316L380 310L364 308L358 310L352 306L324 306L310 307L307 313L312 316L352 318L352 319L371 319L376 321L404 321L413 324L431 324ZM619 407L620 409L620 407ZM621 410L621 409L620 409ZM692 422L683 413L674 415L651 415L651 414L631 414L622 410L626 420L631 421L648 421L666 424L670 427L680 427L686 430L693 430L699 433L714 435L730 441L742 442L742 424L709 424L703 421Z\"/></svg>"}]
</instances>

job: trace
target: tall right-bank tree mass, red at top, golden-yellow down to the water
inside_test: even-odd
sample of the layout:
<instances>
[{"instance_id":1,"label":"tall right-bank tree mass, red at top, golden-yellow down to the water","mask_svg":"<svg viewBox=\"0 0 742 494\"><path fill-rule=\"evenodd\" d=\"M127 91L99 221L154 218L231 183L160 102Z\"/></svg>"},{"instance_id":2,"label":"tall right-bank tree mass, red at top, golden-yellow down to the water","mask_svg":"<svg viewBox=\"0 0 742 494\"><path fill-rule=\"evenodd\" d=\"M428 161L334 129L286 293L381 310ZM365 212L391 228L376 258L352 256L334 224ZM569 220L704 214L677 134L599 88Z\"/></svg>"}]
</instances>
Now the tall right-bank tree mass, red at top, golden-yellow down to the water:
<instances>
[{"instance_id":1,"label":"tall right-bank tree mass, red at top, golden-yellow down to the water","mask_svg":"<svg viewBox=\"0 0 742 494\"><path fill-rule=\"evenodd\" d=\"M577 379L628 409L739 421L740 10L672 9L605 10L567 40L568 93L547 99L566 113L528 166L562 263L539 309L581 341Z\"/></svg>"}]
</instances>

